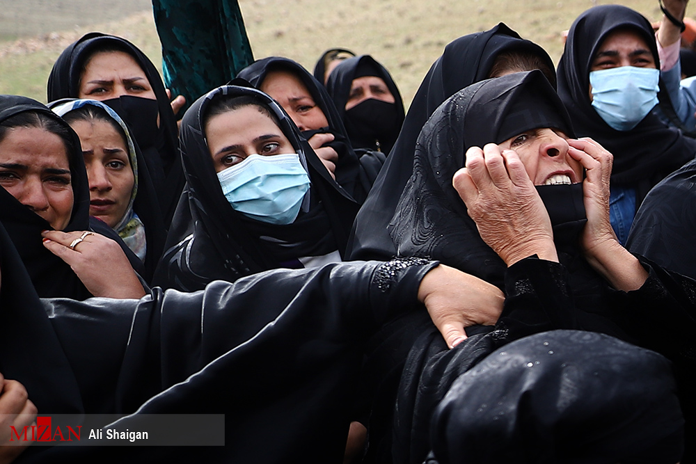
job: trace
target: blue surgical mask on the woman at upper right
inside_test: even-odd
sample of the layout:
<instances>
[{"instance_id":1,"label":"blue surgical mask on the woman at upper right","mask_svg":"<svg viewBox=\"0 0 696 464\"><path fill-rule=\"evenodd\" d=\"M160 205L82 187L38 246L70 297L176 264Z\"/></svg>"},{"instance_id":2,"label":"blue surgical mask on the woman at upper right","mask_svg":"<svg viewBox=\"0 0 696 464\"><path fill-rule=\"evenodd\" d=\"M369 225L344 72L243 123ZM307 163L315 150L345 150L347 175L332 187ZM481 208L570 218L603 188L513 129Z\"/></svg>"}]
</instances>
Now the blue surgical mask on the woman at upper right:
<instances>
[{"instance_id":1,"label":"blue surgical mask on the woman at upper right","mask_svg":"<svg viewBox=\"0 0 696 464\"><path fill-rule=\"evenodd\" d=\"M622 66L590 72L592 106L617 131L630 131L658 104L660 71Z\"/></svg>"}]
</instances>

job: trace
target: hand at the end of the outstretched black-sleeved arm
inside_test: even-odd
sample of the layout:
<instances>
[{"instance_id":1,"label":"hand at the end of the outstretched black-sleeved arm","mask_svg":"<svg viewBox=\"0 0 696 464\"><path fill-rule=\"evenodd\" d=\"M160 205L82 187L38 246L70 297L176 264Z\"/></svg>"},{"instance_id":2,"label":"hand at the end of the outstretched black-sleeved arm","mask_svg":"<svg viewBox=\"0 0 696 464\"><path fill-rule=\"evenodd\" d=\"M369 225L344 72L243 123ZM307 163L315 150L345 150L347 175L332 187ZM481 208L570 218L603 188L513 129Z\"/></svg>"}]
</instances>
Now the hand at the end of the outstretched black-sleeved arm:
<instances>
[{"instance_id":1,"label":"hand at the end of the outstretched black-sleeved arm","mask_svg":"<svg viewBox=\"0 0 696 464\"><path fill-rule=\"evenodd\" d=\"M440 264L425 275L418 287L418 300L452 348L466 339L464 328L492 326L503 312L505 295L494 285Z\"/></svg>"}]
</instances>

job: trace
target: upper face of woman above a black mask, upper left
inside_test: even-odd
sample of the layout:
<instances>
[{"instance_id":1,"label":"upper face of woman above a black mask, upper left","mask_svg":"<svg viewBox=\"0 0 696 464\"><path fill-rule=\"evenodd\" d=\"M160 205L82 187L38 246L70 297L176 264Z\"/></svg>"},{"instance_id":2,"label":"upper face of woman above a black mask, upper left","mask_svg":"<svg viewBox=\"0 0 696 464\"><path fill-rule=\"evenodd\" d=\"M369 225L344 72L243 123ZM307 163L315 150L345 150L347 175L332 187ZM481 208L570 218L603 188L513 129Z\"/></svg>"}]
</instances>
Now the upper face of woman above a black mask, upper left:
<instances>
[{"instance_id":1,"label":"upper face of woman above a black mask, upper left","mask_svg":"<svg viewBox=\"0 0 696 464\"><path fill-rule=\"evenodd\" d=\"M100 51L88 61L78 90L79 98L106 100L131 95L155 100L145 71L125 51Z\"/></svg>"}]
</instances>

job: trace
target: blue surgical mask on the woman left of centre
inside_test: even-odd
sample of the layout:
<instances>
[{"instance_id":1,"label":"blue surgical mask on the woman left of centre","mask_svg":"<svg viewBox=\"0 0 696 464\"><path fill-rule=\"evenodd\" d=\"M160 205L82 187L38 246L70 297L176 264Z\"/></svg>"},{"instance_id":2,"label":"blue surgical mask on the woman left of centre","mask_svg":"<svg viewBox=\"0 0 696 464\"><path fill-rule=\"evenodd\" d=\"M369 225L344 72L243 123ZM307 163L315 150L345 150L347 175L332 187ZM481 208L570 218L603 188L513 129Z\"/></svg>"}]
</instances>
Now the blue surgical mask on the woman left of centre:
<instances>
[{"instance_id":1,"label":"blue surgical mask on the woman left of centre","mask_svg":"<svg viewBox=\"0 0 696 464\"><path fill-rule=\"evenodd\" d=\"M271 224L292 223L310 186L296 153L269 157L251 154L217 175L232 208Z\"/></svg>"}]
</instances>

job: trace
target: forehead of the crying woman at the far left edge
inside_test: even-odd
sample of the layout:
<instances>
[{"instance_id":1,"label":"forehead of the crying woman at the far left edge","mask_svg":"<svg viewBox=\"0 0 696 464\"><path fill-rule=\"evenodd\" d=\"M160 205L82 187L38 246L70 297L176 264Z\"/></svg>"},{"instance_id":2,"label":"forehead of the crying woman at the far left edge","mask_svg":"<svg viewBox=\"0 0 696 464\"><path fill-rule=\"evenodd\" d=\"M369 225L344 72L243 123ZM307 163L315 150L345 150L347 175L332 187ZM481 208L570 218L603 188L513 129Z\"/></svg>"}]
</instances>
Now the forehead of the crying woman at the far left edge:
<instances>
[{"instance_id":1,"label":"forehead of the crying woman at the far left edge","mask_svg":"<svg viewBox=\"0 0 696 464\"><path fill-rule=\"evenodd\" d=\"M0 141L0 163L68 169L63 139L39 127L13 127Z\"/></svg>"}]
</instances>

